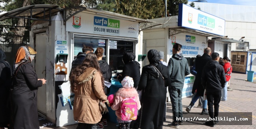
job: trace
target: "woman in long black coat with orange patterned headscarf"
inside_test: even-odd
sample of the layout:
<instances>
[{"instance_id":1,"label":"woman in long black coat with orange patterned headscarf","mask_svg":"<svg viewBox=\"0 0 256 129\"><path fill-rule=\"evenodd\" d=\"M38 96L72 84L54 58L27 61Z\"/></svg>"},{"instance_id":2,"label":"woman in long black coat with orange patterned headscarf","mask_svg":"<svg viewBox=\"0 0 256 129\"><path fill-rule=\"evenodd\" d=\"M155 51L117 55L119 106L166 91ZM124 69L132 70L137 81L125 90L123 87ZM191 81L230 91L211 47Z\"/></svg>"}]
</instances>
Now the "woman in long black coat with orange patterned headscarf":
<instances>
[{"instance_id":1,"label":"woman in long black coat with orange patterned headscarf","mask_svg":"<svg viewBox=\"0 0 256 129\"><path fill-rule=\"evenodd\" d=\"M11 129L39 129L37 90L46 80L37 79L31 64L35 54L33 48L21 46L15 58L11 88Z\"/></svg>"}]
</instances>

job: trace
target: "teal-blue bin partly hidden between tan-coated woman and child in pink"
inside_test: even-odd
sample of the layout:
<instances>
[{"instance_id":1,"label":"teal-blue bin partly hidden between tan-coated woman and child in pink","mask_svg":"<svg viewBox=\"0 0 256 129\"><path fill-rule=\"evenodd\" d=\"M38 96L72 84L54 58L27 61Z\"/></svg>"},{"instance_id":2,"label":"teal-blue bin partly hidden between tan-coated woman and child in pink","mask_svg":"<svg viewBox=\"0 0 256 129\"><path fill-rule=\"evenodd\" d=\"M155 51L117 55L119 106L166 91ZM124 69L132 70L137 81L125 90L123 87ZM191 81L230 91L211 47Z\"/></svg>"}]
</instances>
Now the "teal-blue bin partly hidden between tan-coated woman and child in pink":
<instances>
[{"instance_id":1,"label":"teal-blue bin partly hidden between tan-coated woman and child in pink","mask_svg":"<svg viewBox=\"0 0 256 129\"><path fill-rule=\"evenodd\" d=\"M110 86L109 95L115 94L120 88L122 88L122 84L119 81L112 81L112 85ZM117 116L115 115L115 111L111 109L111 107L108 107L108 113L109 113L109 121L118 123L117 122Z\"/></svg>"}]
</instances>

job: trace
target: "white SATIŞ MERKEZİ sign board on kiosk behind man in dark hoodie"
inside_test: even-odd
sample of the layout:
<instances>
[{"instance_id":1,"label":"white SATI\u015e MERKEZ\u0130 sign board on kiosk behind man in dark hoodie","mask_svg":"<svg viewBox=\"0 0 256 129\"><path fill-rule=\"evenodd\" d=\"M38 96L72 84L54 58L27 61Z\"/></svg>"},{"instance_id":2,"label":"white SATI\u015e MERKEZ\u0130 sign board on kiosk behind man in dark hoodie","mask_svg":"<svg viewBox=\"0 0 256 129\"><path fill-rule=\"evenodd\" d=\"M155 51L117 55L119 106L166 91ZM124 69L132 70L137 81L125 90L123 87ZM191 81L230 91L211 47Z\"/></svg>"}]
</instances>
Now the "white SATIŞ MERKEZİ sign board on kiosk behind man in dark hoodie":
<instances>
[{"instance_id":1,"label":"white SATI\u015e MERKEZ\u0130 sign board on kiosk behind man in dark hoodie","mask_svg":"<svg viewBox=\"0 0 256 129\"><path fill-rule=\"evenodd\" d=\"M174 43L179 43L182 45L181 53L184 57L196 57L204 54L204 48L208 47L206 42L206 37L180 33L172 36L167 45L172 50Z\"/></svg>"}]
</instances>

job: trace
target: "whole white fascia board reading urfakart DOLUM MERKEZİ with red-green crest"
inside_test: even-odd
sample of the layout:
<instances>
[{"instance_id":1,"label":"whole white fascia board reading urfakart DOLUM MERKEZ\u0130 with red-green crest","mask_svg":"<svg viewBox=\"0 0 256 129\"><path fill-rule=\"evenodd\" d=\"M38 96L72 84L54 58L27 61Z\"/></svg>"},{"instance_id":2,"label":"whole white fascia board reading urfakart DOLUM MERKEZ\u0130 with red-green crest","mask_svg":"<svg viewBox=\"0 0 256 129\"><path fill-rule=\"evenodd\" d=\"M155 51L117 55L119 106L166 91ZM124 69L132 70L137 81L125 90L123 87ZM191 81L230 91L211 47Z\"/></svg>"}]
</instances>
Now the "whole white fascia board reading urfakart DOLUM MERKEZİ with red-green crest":
<instances>
[{"instance_id":1,"label":"whole white fascia board reading urfakart DOLUM MERKEZ\u0130 with red-green crest","mask_svg":"<svg viewBox=\"0 0 256 129\"><path fill-rule=\"evenodd\" d=\"M139 23L107 16L79 13L66 22L66 31L138 38Z\"/></svg>"}]
</instances>

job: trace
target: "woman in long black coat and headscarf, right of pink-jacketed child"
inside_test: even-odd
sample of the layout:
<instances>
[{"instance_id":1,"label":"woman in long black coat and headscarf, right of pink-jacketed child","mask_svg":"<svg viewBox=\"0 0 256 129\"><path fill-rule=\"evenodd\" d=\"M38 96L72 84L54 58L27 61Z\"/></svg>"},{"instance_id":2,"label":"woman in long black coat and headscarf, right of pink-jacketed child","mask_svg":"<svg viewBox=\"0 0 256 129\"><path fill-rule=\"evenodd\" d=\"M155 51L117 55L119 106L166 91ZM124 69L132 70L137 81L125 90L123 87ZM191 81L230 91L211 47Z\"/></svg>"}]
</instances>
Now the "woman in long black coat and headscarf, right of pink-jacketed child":
<instances>
[{"instance_id":1,"label":"woman in long black coat and headscarf, right of pink-jacketed child","mask_svg":"<svg viewBox=\"0 0 256 129\"><path fill-rule=\"evenodd\" d=\"M160 58L157 50L149 50L147 56L150 65L142 68L138 86L138 90L144 90L141 98L139 128L162 129L167 93L165 87L170 84L171 78L167 66L159 63Z\"/></svg>"}]
</instances>

